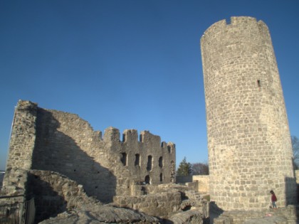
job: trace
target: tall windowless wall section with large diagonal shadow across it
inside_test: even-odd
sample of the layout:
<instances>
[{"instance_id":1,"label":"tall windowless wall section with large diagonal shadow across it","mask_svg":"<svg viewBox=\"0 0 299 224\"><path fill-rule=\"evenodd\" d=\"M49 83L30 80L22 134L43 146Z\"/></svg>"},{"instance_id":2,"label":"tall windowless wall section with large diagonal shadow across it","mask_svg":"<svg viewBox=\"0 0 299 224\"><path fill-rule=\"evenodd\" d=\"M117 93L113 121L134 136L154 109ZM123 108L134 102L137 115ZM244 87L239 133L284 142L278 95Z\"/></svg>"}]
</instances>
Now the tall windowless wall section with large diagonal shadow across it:
<instances>
[{"instance_id":1,"label":"tall windowless wall section with large diagonal shadow across it","mask_svg":"<svg viewBox=\"0 0 299 224\"><path fill-rule=\"evenodd\" d=\"M38 108L33 169L56 171L82 184L90 196L111 202L117 181L101 132L76 114Z\"/></svg>"}]
</instances>

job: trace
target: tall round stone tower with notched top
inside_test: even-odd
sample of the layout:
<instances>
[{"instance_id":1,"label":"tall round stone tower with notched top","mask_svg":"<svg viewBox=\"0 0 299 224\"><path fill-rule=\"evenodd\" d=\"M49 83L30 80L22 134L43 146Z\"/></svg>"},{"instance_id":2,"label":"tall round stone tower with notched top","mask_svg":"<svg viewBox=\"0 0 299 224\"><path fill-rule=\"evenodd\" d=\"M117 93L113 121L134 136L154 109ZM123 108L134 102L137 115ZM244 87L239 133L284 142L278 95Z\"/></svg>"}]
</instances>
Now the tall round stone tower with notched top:
<instances>
[{"instance_id":1,"label":"tall round stone tower with notched top","mask_svg":"<svg viewBox=\"0 0 299 224\"><path fill-rule=\"evenodd\" d=\"M295 203L288 118L271 36L263 21L231 17L201 37L210 193L224 210Z\"/></svg>"}]
</instances>

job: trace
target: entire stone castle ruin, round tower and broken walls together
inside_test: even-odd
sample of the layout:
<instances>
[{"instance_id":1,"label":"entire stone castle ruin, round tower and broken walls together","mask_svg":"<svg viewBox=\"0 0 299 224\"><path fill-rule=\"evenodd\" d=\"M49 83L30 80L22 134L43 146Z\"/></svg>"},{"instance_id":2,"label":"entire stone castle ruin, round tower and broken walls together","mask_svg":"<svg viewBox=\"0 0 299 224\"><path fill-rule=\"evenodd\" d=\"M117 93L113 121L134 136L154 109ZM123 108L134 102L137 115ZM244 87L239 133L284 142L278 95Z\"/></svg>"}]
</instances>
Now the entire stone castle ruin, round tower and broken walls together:
<instances>
[{"instance_id":1,"label":"entire stone castle ruin, round tower and broken walls together","mask_svg":"<svg viewBox=\"0 0 299 224\"><path fill-rule=\"evenodd\" d=\"M227 211L214 223L264 218L271 189L284 207L271 215L295 223L290 132L266 24L214 23L201 55L210 174L196 183ZM36 198L35 221L43 223L56 215L48 223L204 223L209 202L190 191L196 184L174 184L175 150L147 131L125 130L120 140L109 127L102 137L76 114L20 100L0 194Z\"/></svg>"}]
</instances>

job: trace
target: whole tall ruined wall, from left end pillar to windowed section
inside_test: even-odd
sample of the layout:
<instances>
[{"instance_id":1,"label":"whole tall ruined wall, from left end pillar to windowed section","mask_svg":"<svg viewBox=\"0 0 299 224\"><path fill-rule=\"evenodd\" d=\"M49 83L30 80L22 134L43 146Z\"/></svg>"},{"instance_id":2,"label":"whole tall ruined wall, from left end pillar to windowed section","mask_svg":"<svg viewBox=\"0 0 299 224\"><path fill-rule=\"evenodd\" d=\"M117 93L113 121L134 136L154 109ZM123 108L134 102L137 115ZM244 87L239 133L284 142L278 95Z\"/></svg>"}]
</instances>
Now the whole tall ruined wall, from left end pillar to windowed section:
<instances>
[{"instance_id":1,"label":"whole tall ruined wall, from left end pillar to windowed section","mask_svg":"<svg viewBox=\"0 0 299 224\"><path fill-rule=\"evenodd\" d=\"M82 184L90 196L111 202L131 195L132 185L175 181L175 145L136 130L93 131L76 114L45 110L19 101L14 117L7 169L56 171Z\"/></svg>"}]
</instances>

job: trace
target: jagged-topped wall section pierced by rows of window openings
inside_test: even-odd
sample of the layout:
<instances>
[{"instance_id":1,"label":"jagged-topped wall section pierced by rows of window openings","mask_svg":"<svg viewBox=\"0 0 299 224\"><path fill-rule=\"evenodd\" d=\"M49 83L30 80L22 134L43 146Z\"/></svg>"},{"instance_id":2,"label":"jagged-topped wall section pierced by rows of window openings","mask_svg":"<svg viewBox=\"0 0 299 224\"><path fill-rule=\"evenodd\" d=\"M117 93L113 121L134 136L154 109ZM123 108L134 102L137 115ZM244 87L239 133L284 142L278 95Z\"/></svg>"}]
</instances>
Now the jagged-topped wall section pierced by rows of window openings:
<instances>
[{"instance_id":1,"label":"jagged-topped wall section pierced by rows of window openings","mask_svg":"<svg viewBox=\"0 0 299 224\"><path fill-rule=\"evenodd\" d=\"M175 181L175 145L171 142L161 143L160 137L144 131L125 130L120 141L118 129L106 129L105 142L109 141L111 169L117 175L117 195L131 195L130 186L135 183L173 183ZM121 162L120 162L121 161ZM111 164L111 163L110 163ZM128 170L125 173L123 170ZM134 193L133 193L134 194Z\"/></svg>"}]
</instances>

